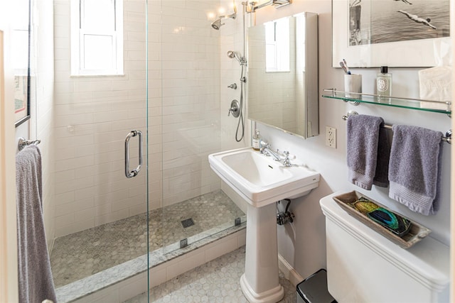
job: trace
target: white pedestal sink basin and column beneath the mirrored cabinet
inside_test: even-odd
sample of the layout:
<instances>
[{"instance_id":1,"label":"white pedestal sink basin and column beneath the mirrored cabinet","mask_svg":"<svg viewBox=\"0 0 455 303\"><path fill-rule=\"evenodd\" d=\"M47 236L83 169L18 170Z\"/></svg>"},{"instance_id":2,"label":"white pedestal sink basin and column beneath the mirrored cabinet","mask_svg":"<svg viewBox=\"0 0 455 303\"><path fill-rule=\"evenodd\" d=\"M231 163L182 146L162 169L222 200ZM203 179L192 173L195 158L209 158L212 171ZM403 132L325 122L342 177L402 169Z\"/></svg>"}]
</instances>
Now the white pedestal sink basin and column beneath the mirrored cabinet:
<instances>
[{"instance_id":1,"label":"white pedestal sink basin and column beneath the mirrored cabinet","mask_svg":"<svg viewBox=\"0 0 455 303\"><path fill-rule=\"evenodd\" d=\"M284 296L279 284L275 202L308 194L319 173L303 165L285 167L252 148L208 156L210 167L248 202L245 273L240 287L249 302L274 303Z\"/></svg>"}]
</instances>

